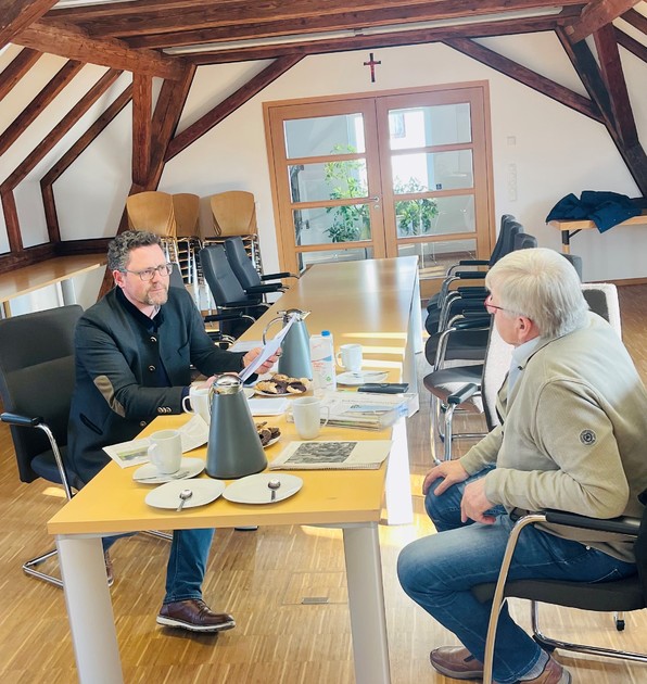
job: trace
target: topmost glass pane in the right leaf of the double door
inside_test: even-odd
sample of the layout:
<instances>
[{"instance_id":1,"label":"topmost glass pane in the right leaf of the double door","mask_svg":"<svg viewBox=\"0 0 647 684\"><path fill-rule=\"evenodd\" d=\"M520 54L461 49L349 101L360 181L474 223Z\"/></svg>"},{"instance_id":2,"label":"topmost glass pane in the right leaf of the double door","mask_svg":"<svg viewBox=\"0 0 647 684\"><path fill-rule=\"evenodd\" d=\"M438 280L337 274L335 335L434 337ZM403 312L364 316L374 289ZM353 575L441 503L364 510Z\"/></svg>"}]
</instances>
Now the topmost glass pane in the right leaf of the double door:
<instances>
[{"instance_id":1,"label":"topmost glass pane in the right leaf of the double door","mask_svg":"<svg viewBox=\"0 0 647 684\"><path fill-rule=\"evenodd\" d=\"M470 105L440 104L389 112L392 150L455 144L472 139Z\"/></svg>"}]
</instances>

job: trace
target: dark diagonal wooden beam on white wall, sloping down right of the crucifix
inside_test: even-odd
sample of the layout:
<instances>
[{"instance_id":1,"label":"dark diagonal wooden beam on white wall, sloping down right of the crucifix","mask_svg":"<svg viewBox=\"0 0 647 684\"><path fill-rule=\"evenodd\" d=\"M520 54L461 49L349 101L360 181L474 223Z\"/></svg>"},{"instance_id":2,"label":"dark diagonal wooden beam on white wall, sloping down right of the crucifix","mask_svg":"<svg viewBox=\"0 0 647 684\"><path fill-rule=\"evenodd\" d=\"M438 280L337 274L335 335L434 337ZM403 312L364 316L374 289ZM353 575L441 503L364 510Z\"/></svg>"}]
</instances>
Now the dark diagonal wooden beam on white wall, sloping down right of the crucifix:
<instances>
[{"instance_id":1,"label":"dark diagonal wooden beam on white wall, sloping down right of the crucifix","mask_svg":"<svg viewBox=\"0 0 647 684\"><path fill-rule=\"evenodd\" d=\"M561 86L560 84L533 72L532 69L513 62L490 48L470 40L469 38L452 38L449 40L443 40L443 42L458 52L462 52L468 56L490 66L515 80L541 92L542 94L553 98L557 102L564 104L566 106L588 116L596 122L602 122L602 115L595 102L592 102L587 98L573 92L569 88Z\"/></svg>"}]
</instances>

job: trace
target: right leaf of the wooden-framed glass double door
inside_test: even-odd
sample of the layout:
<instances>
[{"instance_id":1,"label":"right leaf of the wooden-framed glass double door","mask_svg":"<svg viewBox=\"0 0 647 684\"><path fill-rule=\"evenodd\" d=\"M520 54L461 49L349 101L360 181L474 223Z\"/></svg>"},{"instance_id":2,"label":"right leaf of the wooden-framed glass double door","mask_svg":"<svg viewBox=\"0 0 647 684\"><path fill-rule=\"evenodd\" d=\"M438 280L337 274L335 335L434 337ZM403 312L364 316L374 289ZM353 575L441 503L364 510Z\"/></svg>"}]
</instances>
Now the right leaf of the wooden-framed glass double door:
<instances>
[{"instance_id":1,"label":"right leaf of the wooden-framed glass double door","mask_svg":"<svg viewBox=\"0 0 647 684\"><path fill-rule=\"evenodd\" d=\"M379 98L386 254L417 255L428 294L460 258L489 254L489 182L479 88Z\"/></svg>"}]
</instances>

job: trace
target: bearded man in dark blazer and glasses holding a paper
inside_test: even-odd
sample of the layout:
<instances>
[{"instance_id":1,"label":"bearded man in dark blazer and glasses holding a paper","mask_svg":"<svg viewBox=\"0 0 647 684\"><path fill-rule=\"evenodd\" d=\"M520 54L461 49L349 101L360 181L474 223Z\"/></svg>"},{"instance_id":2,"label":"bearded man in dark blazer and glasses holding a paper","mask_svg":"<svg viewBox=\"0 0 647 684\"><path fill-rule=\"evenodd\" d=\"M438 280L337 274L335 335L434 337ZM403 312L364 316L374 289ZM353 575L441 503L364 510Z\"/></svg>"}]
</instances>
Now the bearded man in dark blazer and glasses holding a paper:
<instances>
[{"instance_id":1,"label":"bearded man in dark blazer and glasses holding a paper","mask_svg":"<svg viewBox=\"0 0 647 684\"><path fill-rule=\"evenodd\" d=\"M85 482L110 461L104 446L132 440L157 416L182 413L191 364L211 384L214 373L242 370L259 353L214 345L189 293L169 289L170 266L154 233L117 236L109 245L107 267L116 287L81 316L75 334L67 453ZM160 624L195 632L236 626L230 615L213 612L202 600L213 535L214 530L174 531ZM103 540L109 580L107 549L115 539Z\"/></svg>"}]
</instances>

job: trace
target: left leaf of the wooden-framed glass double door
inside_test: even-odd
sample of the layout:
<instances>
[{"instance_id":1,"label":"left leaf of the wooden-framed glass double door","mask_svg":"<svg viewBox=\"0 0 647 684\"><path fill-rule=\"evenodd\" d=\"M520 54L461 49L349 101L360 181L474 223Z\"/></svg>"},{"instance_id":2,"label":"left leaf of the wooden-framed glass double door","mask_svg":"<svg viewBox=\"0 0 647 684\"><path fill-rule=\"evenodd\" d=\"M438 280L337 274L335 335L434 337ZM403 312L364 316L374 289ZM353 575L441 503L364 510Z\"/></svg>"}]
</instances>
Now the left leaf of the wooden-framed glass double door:
<instances>
[{"instance_id":1,"label":"left leaf of the wooden-framed glass double door","mask_svg":"<svg viewBox=\"0 0 647 684\"><path fill-rule=\"evenodd\" d=\"M371 100L270 112L288 270L385 255L375 116Z\"/></svg>"}]
</instances>

